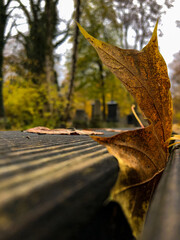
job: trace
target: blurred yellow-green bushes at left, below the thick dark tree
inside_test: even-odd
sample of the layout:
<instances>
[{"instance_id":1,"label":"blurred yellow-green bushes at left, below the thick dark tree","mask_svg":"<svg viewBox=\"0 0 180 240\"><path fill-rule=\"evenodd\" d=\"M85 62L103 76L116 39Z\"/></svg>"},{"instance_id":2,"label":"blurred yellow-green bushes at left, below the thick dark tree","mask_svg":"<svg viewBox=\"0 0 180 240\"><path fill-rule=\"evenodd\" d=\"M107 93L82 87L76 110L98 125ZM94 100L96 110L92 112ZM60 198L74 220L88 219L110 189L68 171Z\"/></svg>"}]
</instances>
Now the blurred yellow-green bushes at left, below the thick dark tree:
<instances>
[{"instance_id":1,"label":"blurred yellow-green bushes at left, below the thick dark tree","mask_svg":"<svg viewBox=\"0 0 180 240\"><path fill-rule=\"evenodd\" d=\"M55 86L25 81L16 77L4 84L4 104L11 129L34 126L58 127L63 101Z\"/></svg>"}]
</instances>

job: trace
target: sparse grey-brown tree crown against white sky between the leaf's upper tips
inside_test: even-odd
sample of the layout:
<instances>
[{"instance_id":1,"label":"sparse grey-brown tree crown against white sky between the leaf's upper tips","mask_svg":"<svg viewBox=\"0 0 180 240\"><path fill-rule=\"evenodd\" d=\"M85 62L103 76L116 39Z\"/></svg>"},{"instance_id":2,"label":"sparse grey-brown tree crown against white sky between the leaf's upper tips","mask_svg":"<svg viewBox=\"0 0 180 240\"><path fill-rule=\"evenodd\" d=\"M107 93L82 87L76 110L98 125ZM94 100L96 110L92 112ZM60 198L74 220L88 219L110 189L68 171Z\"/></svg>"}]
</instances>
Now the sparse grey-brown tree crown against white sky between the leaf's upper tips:
<instances>
[{"instance_id":1,"label":"sparse grey-brown tree crown against white sky between the leaf's upper tips","mask_svg":"<svg viewBox=\"0 0 180 240\"><path fill-rule=\"evenodd\" d=\"M156 0L112 0L112 2L119 23L120 46L140 50L150 39L151 30L157 19L164 13L163 6L172 7L174 0L164 0L163 4Z\"/></svg>"}]
</instances>

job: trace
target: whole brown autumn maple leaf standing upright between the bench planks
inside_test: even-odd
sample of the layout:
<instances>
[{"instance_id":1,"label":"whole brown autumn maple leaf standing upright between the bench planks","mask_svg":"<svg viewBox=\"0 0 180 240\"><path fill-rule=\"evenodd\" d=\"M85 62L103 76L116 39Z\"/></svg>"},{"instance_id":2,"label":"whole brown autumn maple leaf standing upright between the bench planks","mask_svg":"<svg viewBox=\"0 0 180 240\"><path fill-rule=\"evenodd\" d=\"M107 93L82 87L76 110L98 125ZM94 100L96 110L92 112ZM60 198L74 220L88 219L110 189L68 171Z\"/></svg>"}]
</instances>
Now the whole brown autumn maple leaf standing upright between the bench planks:
<instances>
[{"instance_id":1,"label":"whole brown autumn maple leaf standing upright between the bench planks","mask_svg":"<svg viewBox=\"0 0 180 240\"><path fill-rule=\"evenodd\" d=\"M120 173L111 197L121 204L134 236L138 237L149 200L168 159L166 141L172 132L170 81L158 49L157 23L149 43L141 51L112 46L78 26L150 122L146 128L113 137L92 137L105 145L119 162Z\"/></svg>"}]
</instances>

